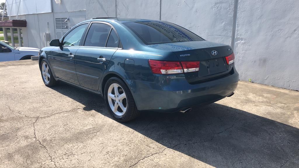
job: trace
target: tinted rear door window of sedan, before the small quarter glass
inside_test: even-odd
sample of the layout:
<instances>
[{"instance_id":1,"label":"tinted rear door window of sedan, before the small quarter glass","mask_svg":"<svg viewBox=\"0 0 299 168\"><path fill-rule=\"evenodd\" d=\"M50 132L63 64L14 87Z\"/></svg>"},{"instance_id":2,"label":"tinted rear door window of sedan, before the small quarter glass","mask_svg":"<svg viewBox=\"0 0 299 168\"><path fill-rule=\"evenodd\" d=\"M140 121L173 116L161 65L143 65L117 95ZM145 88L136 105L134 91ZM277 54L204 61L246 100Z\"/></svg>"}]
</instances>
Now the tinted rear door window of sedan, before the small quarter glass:
<instances>
[{"instance_id":1,"label":"tinted rear door window of sedan, before the small quarter glass","mask_svg":"<svg viewBox=\"0 0 299 168\"><path fill-rule=\"evenodd\" d=\"M103 23L91 24L84 46L105 47L111 27Z\"/></svg>"}]
</instances>

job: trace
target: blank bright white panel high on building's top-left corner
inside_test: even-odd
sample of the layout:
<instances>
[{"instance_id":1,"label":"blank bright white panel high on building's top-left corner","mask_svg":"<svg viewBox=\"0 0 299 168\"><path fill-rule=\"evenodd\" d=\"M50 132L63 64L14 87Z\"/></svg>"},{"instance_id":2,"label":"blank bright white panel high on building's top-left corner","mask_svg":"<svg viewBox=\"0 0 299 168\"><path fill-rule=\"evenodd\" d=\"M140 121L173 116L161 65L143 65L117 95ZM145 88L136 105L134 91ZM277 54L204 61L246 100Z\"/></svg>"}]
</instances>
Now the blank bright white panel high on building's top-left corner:
<instances>
[{"instance_id":1,"label":"blank bright white panel high on building's top-left corner","mask_svg":"<svg viewBox=\"0 0 299 168\"><path fill-rule=\"evenodd\" d=\"M51 0L7 0L7 15L26 15L52 12Z\"/></svg>"}]
</instances>

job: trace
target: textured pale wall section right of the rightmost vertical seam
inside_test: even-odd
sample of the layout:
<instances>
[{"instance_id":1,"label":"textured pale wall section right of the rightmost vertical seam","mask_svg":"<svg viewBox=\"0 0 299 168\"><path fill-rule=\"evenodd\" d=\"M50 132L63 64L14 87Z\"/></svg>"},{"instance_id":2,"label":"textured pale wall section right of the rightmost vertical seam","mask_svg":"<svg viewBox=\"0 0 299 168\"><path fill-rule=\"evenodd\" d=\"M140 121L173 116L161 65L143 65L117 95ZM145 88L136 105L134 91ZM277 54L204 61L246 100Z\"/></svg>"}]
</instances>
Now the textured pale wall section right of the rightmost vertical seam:
<instances>
[{"instance_id":1,"label":"textured pale wall section right of the rightmost vertical seam","mask_svg":"<svg viewBox=\"0 0 299 168\"><path fill-rule=\"evenodd\" d=\"M299 1L239 1L240 80L299 90Z\"/></svg>"}]
</instances>

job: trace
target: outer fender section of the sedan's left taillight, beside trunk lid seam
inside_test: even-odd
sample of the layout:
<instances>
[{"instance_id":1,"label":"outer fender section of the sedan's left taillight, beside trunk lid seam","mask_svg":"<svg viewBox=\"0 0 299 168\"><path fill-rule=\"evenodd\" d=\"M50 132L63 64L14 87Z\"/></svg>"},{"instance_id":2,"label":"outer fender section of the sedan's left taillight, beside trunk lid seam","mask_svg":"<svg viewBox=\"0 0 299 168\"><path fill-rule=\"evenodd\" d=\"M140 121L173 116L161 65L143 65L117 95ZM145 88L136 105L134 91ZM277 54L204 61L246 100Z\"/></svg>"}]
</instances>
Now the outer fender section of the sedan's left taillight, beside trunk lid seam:
<instances>
[{"instance_id":1,"label":"outer fender section of the sedan's left taillight, beside trunk lid seam","mask_svg":"<svg viewBox=\"0 0 299 168\"><path fill-rule=\"evenodd\" d=\"M180 74L183 68L178 61L149 60L149 66L154 74Z\"/></svg>"}]
</instances>

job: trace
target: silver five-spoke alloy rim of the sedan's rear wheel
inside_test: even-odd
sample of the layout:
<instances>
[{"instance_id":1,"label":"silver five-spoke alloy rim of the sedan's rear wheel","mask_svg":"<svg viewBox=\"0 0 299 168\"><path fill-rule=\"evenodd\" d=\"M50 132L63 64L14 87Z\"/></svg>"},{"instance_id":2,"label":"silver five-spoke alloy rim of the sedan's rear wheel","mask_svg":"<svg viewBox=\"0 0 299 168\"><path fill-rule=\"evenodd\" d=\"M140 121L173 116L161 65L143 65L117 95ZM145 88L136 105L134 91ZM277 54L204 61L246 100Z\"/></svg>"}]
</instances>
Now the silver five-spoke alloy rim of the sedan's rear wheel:
<instances>
[{"instance_id":1,"label":"silver five-spoke alloy rim of the sedan's rear wheel","mask_svg":"<svg viewBox=\"0 0 299 168\"><path fill-rule=\"evenodd\" d=\"M112 83L108 88L107 96L112 112L117 116L123 116L128 106L126 93L123 88L117 83Z\"/></svg>"}]
</instances>

